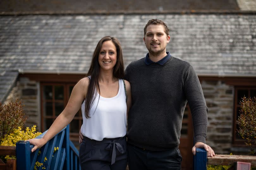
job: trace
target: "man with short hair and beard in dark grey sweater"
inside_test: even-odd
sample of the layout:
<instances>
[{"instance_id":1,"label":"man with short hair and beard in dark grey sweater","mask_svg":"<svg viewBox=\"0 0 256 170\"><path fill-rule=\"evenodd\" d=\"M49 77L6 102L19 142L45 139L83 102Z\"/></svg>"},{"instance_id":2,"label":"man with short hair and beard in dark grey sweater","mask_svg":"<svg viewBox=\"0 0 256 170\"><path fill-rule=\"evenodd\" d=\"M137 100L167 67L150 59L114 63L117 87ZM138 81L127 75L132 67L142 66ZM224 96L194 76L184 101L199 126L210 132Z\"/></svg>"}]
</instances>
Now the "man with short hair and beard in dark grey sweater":
<instances>
[{"instance_id":1,"label":"man with short hair and beard in dark grey sweater","mask_svg":"<svg viewBox=\"0 0 256 170\"><path fill-rule=\"evenodd\" d=\"M125 70L132 96L127 131L129 169L181 169L178 147L187 102L194 128L192 153L204 148L208 156L214 156L205 144L207 107L195 70L166 52L170 36L163 21L149 20L143 39L149 53Z\"/></svg>"}]
</instances>

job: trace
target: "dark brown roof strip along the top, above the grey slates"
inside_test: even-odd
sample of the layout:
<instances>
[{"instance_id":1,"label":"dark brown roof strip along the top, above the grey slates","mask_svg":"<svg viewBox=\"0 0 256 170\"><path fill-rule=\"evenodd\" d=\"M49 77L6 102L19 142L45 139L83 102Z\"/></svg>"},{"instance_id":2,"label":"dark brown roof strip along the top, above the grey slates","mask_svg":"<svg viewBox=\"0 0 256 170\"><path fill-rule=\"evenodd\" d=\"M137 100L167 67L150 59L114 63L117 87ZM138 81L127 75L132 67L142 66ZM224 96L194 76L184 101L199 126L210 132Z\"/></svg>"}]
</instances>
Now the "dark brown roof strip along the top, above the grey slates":
<instances>
[{"instance_id":1,"label":"dark brown roof strip along the top, above the grey slates","mask_svg":"<svg viewBox=\"0 0 256 170\"><path fill-rule=\"evenodd\" d=\"M245 0L240 0L245 1ZM248 0L247 0L248 1ZM0 14L154 13L170 11L238 11L236 0L1 0Z\"/></svg>"}]
</instances>

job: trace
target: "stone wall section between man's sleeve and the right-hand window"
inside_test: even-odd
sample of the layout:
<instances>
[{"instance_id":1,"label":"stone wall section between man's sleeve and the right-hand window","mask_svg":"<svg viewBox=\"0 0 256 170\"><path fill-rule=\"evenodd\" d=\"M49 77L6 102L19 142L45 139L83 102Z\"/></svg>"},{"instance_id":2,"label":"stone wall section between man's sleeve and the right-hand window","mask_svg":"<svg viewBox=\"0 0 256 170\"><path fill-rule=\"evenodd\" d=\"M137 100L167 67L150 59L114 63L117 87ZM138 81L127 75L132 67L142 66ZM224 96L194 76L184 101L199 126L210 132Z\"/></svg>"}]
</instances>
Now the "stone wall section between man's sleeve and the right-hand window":
<instances>
[{"instance_id":1,"label":"stone wall section between man's sleeve and the right-hand window","mask_svg":"<svg viewBox=\"0 0 256 170\"><path fill-rule=\"evenodd\" d=\"M232 145L234 86L222 81L202 81L208 107L207 144L217 154L229 154Z\"/></svg>"}]
</instances>

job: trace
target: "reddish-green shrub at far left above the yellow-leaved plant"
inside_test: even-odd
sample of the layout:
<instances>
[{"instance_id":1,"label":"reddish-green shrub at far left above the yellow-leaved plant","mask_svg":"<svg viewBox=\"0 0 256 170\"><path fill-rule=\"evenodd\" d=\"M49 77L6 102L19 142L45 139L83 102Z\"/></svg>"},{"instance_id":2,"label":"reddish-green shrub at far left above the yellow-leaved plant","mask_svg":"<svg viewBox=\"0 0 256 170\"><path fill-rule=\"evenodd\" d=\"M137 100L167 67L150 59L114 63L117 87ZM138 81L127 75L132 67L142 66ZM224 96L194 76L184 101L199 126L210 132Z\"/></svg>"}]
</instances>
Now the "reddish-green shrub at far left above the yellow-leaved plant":
<instances>
[{"instance_id":1,"label":"reddish-green shrub at far left above the yellow-leaved plant","mask_svg":"<svg viewBox=\"0 0 256 170\"><path fill-rule=\"evenodd\" d=\"M0 139L9 135L19 126L23 126L26 118L23 113L21 101L10 101L6 105L0 103Z\"/></svg>"}]
</instances>

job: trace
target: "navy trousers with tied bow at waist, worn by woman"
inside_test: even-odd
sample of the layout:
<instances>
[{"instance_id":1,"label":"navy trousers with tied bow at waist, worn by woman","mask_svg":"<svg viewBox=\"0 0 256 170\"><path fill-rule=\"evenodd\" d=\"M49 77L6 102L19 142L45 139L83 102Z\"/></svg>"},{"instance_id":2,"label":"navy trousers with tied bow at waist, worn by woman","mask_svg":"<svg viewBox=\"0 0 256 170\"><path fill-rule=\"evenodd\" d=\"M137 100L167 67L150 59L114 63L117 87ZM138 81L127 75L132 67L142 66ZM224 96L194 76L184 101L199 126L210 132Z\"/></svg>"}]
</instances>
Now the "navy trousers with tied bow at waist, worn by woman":
<instances>
[{"instance_id":1,"label":"navy trousers with tied bow at waist, worn by woman","mask_svg":"<svg viewBox=\"0 0 256 170\"><path fill-rule=\"evenodd\" d=\"M84 136L79 149L79 161L82 170L125 170L126 137L96 141Z\"/></svg>"}]
</instances>

